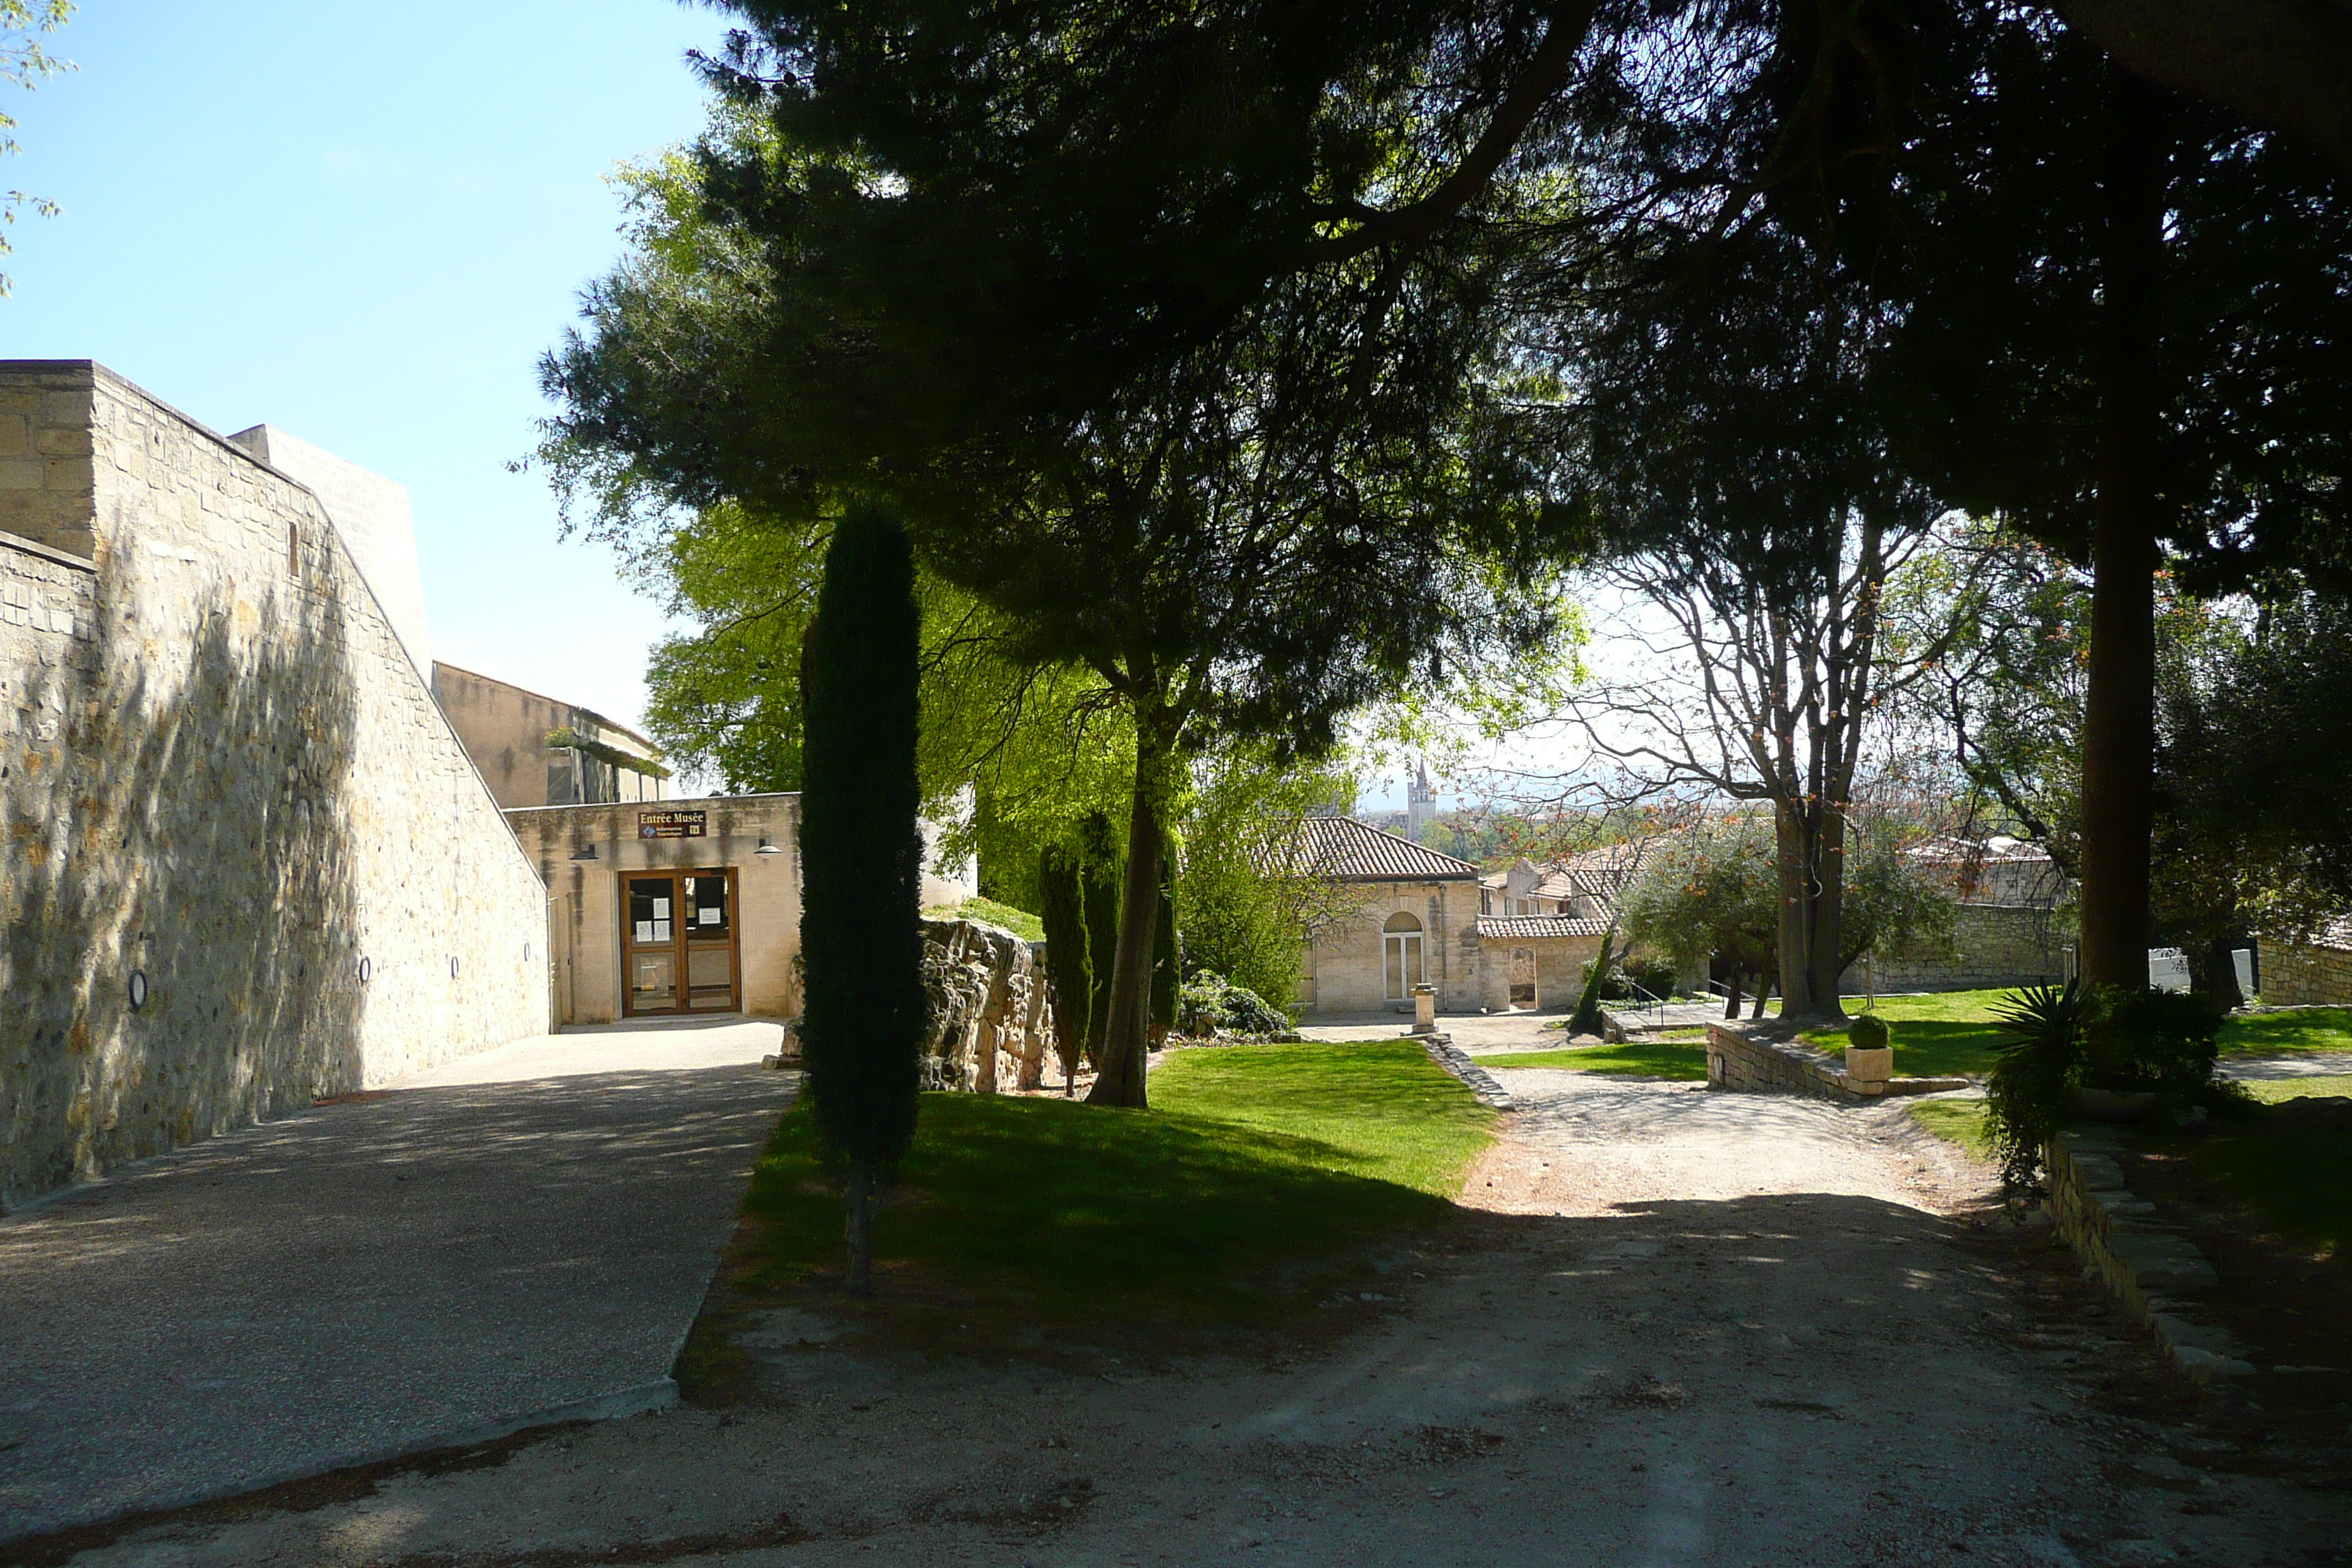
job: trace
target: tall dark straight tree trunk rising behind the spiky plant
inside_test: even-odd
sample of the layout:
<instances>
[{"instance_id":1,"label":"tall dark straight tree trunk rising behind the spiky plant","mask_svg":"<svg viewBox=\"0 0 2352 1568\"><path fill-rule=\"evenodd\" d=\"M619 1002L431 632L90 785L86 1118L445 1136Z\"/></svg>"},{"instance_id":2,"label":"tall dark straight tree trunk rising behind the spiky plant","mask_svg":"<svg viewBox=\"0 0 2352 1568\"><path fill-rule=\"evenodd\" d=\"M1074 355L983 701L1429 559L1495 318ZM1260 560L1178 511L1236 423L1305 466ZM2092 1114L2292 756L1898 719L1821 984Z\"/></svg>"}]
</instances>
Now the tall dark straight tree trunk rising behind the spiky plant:
<instances>
[{"instance_id":1,"label":"tall dark straight tree trunk rising behind the spiky plant","mask_svg":"<svg viewBox=\"0 0 2352 1568\"><path fill-rule=\"evenodd\" d=\"M2091 522L2091 689L2082 724L2082 978L2147 985L2154 825L2157 437L2147 299L2164 259L2164 160L2150 89L2114 73L2100 226L2098 508Z\"/></svg>"}]
</instances>

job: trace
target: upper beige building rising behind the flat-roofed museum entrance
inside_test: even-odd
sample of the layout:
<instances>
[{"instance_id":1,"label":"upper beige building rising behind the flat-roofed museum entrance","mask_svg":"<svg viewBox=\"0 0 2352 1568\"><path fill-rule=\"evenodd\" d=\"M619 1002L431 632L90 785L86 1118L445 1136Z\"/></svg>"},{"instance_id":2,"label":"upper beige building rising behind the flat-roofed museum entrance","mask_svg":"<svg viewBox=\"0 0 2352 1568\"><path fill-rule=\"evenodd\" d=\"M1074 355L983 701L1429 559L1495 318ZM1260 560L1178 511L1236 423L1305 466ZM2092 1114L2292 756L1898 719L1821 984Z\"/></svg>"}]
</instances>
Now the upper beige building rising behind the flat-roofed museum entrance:
<instances>
[{"instance_id":1,"label":"upper beige building rising behind the flat-roofed museum entrance","mask_svg":"<svg viewBox=\"0 0 2352 1568\"><path fill-rule=\"evenodd\" d=\"M590 708L445 663L433 665L433 701L508 811L670 797L661 750Z\"/></svg>"}]
</instances>

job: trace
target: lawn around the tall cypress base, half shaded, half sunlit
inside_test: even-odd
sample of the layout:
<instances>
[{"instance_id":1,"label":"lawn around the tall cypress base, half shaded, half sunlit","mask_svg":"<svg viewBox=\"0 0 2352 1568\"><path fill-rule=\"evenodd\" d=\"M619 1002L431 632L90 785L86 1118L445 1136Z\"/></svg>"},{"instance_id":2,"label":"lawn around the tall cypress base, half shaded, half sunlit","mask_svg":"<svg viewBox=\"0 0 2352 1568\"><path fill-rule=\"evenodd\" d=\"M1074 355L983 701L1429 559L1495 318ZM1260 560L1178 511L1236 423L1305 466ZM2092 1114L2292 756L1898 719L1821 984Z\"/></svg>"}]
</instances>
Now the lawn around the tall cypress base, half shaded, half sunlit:
<instances>
[{"instance_id":1,"label":"lawn around the tall cypress base, half shaded, half sunlit","mask_svg":"<svg viewBox=\"0 0 2352 1568\"><path fill-rule=\"evenodd\" d=\"M1494 1126L1414 1041L1181 1051L1150 1093L1150 1112L924 1095L870 1305L837 1291L840 1180L793 1110L753 1175L734 1284L957 1347L974 1326L1014 1347L1265 1328L1449 1213Z\"/></svg>"}]
</instances>

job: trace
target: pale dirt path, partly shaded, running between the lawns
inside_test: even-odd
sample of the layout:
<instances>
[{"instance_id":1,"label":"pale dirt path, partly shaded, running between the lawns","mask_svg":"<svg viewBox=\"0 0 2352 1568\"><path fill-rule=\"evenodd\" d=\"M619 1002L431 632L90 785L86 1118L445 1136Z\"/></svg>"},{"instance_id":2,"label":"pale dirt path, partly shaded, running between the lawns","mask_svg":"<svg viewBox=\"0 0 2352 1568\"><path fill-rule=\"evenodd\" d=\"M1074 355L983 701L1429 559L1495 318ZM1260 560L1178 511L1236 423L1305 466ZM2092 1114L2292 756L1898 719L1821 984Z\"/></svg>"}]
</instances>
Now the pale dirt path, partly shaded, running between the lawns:
<instances>
[{"instance_id":1,"label":"pale dirt path, partly shaded, running between the lawns","mask_svg":"<svg viewBox=\"0 0 2352 1568\"><path fill-rule=\"evenodd\" d=\"M1882 1112L1510 1072L1388 1316L1272 1361L920 1363L191 1514L87 1563L2324 1563L2072 1260ZM1489 1187L1489 1182L1494 1182ZM1484 1213L1479 1213L1484 1211ZM1350 1302L1350 1309L1364 1309ZM64 1559L52 1559L64 1561Z\"/></svg>"}]
</instances>

